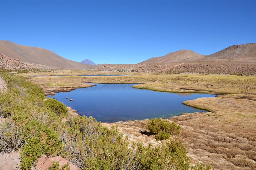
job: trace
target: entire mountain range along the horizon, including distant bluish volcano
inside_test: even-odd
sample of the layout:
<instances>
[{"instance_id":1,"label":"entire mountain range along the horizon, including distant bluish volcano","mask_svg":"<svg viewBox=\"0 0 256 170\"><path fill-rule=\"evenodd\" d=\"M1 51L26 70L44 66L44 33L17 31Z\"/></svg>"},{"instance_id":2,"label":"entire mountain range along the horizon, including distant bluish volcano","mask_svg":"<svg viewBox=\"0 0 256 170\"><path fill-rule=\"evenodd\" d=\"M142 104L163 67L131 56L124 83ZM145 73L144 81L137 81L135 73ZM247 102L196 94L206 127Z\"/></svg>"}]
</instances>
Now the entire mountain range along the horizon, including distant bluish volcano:
<instances>
[{"instance_id":1,"label":"entire mountain range along the horizon, including distant bluish volcano","mask_svg":"<svg viewBox=\"0 0 256 170\"><path fill-rule=\"evenodd\" d=\"M2 53L3 56L6 55L12 59L16 59L21 63L25 63L28 65L37 64L37 66L38 65L50 66L51 68L56 70L57 69L106 70L107 68L106 65L104 64L96 65L89 59L85 59L81 63L79 63L72 60L68 60L44 48L19 45L11 41L0 40L0 53ZM6 58L5 60L7 60L8 57L5 57ZM234 62L236 62L236 64L237 62L238 63L239 62L240 63L256 63L256 43L233 45L211 55L201 55L192 50L181 49L179 51L172 52L161 57L152 57L138 64L130 64L128 70L130 71L141 70L140 67L145 64L148 65L148 64L161 64L161 63L177 63L179 66L175 65L175 67L185 67L185 65L188 65L188 63L193 63L193 62L209 63L212 61L224 62L224 63L228 62L231 65L235 64ZM186 63L185 65L180 65L180 64L184 64L184 62ZM10 61L10 63L13 63L13 62ZM114 65L112 64L111 67L113 67ZM126 66L127 65L125 64L120 64L118 65L118 70L124 70L122 68ZM174 66L170 66L170 67L174 67ZM164 68L161 68L160 70L163 70L163 69Z\"/></svg>"}]
</instances>

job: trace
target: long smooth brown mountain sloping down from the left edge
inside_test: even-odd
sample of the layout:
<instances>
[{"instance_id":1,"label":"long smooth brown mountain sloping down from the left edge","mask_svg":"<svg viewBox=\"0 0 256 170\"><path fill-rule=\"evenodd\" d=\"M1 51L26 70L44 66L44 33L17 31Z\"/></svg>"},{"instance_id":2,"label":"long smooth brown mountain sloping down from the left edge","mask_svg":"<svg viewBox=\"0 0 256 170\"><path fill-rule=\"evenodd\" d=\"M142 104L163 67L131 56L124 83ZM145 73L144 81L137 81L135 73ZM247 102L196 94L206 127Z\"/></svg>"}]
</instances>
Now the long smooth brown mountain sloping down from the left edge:
<instances>
[{"instance_id":1,"label":"long smooth brown mountain sloping down from the left edge","mask_svg":"<svg viewBox=\"0 0 256 170\"><path fill-rule=\"evenodd\" d=\"M17 58L20 62L24 63L36 63L56 68L74 70L93 68L92 65L68 60L44 48L23 46L11 41L0 40L0 53L8 55L13 59Z\"/></svg>"}]
</instances>

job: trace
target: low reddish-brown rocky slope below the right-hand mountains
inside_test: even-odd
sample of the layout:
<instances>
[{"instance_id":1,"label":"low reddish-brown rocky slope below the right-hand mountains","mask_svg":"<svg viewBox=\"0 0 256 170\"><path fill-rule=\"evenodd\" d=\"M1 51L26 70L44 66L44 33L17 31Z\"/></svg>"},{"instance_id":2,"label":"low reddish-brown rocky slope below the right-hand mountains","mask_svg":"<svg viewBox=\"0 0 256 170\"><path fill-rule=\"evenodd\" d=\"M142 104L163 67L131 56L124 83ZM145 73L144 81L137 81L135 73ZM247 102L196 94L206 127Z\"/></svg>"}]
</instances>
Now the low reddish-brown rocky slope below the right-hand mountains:
<instances>
[{"instance_id":1,"label":"low reddish-brown rocky slope below the right-hand mountains","mask_svg":"<svg viewBox=\"0 0 256 170\"><path fill-rule=\"evenodd\" d=\"M98 64L94 70L113 72L157 72L198 74L256 74L255 63L223 61L190 61L156 64Z\"/></svg>"}]
</instances>

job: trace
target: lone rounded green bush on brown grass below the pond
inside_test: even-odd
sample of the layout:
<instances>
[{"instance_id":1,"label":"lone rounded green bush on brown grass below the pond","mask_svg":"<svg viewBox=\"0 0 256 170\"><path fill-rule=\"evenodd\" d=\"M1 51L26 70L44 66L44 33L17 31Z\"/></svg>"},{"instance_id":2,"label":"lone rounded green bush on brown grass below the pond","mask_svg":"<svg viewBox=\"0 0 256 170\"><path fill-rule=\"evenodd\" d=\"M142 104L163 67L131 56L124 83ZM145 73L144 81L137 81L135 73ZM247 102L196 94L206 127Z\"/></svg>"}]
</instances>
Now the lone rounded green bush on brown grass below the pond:
<instances>
[{"instance_id":1,"label":"lone rounded green bush on brown grass below the pond","mask_svg":"<svg viewBox=\"0 0 256 170\"><path fill-rule=\"evenodd\" d=\"M156 135L156 140L169 139L170 135L177 135L180 133L180 126L175 122L168 120L161 120L158 118L151 119L146 124L147 130Z\"/></svg>"}]
</instances>

